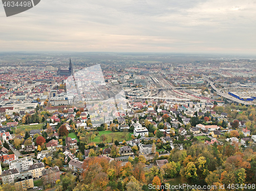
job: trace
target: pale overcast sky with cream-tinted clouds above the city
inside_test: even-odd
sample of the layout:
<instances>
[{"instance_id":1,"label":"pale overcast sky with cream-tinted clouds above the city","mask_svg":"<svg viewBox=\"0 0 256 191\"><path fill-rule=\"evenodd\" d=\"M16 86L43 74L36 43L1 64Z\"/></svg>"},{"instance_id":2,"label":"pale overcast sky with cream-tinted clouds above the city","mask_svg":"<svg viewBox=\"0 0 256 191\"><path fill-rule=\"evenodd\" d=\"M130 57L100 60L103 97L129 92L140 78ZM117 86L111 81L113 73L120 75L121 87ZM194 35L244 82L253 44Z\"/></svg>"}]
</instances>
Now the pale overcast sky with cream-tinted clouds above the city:
<instances>
[{"instance_id":1,"label":"pale overcast sky with cream-tinted clouds above the city","mask_svg":"<svg viewBox=\"0 0 256 191\"><path fill-rule=\"evenodd\" d=\"M41 0L6 17L0 5L0 51L255 55L255 10L255 0Z\"/></svg>"}]
</instances>

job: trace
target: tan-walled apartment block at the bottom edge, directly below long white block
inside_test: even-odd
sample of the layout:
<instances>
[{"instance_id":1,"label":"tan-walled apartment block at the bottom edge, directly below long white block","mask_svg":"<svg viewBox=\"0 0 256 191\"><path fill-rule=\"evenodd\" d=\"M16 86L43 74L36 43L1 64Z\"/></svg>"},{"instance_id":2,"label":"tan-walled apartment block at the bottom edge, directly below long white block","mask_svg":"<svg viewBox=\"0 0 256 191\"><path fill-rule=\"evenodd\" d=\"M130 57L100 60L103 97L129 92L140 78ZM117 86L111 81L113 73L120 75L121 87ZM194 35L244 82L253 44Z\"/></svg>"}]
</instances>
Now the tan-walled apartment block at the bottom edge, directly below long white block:
<instances>
[{"instance_id":1,"label":"tan-walled apartment block at the bottom edge, directly below long white block","mask_svg":"<svg viewBox=\"0 0 256 191\"><path fill-rule=\"evenodd\" d=\"M31 172L26 172L15 176L15 189L16 190L27 190L34 187L34 182Z\"/></svg>"}]
</instances>

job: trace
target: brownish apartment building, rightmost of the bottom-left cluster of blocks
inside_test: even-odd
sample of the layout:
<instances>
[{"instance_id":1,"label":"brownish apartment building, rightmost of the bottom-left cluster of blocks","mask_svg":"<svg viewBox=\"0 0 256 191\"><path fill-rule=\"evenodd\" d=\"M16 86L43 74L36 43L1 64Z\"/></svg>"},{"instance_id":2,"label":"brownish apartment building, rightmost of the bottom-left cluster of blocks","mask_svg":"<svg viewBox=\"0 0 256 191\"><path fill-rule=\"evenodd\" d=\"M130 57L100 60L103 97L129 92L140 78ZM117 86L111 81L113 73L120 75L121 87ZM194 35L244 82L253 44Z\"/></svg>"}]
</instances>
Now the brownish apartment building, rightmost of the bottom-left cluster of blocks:
<instances>
[{"instance_id":1,"label":"brownish apartment building, rightmost of the bottom-left cluster of blocks","mask_svg":"<svg viewBox=\"0 0 256 191\"><path fill-rule=\"evenodd\" d=\"M42 170L42 181L44 184L55 183L58 179L60 179L58 166Z\"/></svg>"}]
</instances>

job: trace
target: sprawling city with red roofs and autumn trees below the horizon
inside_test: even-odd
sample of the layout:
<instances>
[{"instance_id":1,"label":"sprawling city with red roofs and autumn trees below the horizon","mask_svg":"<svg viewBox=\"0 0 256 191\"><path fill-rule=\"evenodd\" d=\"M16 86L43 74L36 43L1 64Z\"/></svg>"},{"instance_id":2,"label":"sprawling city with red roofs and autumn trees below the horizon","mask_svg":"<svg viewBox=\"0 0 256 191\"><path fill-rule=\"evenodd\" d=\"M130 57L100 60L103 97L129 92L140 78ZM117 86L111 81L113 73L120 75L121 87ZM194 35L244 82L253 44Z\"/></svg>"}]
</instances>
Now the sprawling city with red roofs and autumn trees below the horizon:
<instances>
[{"instance_id":1,"label":"sprawling city with red roofs and autumn trees below the horizon","mask_svg":"<svg viewBox=\"0 0 256 191\"><path fill-rule=\"evenodd\" d=\"M253 58L1 53L0 66L0 190L255 190Z\"/></svg>"}]
</instances>

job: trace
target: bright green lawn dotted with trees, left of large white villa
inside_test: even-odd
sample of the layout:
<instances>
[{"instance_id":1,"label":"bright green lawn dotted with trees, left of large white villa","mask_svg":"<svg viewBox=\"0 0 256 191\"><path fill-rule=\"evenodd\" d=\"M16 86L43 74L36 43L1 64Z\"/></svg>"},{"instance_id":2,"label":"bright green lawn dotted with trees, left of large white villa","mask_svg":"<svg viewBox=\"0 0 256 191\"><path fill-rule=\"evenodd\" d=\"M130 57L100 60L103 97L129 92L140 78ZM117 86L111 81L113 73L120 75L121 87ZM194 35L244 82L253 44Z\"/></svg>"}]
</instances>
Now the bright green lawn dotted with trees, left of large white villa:
<instances>
[{"instance_id":1,"label":"bright green lawn dotted with trees, left of large white villa","mask_svg":"<svg viewBox=\"0 0 256 191\"><path fill-rule=\"evenodd\" d=\"M99 135L97 135L93 140L92 142L95 142L95 144L99 144L101 142L100 140L100 136L101 135L105 135L106 138L108 138L108 142L112 142L112 138L111 138L111 135L110 133L114 133L115 134L115 137L114 137L114 141L115 140L118 140L118 141L123 141L123 140L131 140L131 133L127 133L126 137L124 137L124 133L123 132L112 132L112 131L99 131ZM106 141L104 142L106 143Z\"/></svg>"}]
</instances>

